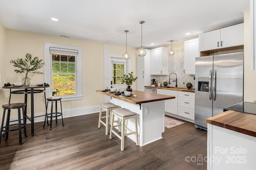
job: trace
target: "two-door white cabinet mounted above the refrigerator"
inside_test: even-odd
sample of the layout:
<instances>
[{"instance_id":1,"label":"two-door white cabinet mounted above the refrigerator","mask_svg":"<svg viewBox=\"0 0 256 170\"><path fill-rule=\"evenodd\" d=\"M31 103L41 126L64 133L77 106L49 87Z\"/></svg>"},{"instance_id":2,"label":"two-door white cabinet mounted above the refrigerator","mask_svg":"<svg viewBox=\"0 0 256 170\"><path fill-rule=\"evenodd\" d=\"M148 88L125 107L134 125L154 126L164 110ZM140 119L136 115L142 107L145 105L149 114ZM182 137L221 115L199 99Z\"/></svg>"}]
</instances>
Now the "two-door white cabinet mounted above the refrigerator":
<instances>
[{"instance_id":1,"label":"two-door white cabinet mounted above the refrigerator","mask_svg":"<svg viewBox=\"0 0 256 170\"><path fill-rule=\"evenodd\" d=\"M199 35L200 51L244 45L244 23Z\"/></svg>"}]
</instances>

